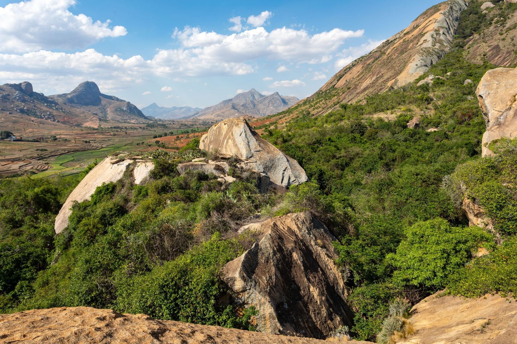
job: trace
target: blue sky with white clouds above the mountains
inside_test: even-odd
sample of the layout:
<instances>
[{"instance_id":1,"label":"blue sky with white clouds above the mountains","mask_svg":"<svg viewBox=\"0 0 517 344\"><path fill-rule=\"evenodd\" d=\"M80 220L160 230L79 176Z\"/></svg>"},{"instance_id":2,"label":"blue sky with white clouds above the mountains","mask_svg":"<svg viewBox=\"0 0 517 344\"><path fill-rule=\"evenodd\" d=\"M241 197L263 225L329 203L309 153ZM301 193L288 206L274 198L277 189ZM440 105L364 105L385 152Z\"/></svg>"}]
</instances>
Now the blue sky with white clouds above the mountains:
<instances>
[{"instance_id":1,"label":"blue sky with white clouds above the mountains","mask_svg":"<svg viewBox=\"0 0 517 344\"><path fill-rule=\"evenodd\" d=\"M139 107L301 99L435 3L0 1L0 84L50 95L87 78Z\"/></svg>"}]
</instances>

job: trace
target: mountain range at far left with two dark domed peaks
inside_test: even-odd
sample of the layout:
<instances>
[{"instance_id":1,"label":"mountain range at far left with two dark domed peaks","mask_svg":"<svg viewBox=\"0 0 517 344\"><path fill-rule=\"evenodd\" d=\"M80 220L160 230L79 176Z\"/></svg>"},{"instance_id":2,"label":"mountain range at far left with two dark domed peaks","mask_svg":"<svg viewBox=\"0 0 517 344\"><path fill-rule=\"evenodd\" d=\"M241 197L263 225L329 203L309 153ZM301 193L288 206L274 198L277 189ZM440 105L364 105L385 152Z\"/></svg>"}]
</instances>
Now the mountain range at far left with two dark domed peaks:
<instances>
[{"instance_id":1,"label":"mountain range at far left with two dark domed peaks","mask_svg":"<svg viewBox=\"0 0 517 344\"><path fill-rule=\"evenodd\" d=\"M115 96L104 95L91 81L69 93L45 96L27 81L0 86L0 115L5 128L32 128L37 123L51 127L63 124L99 127L106 124L143 123L149 119L135 105ZM51 128L49 127L49 128Z\"/></svg>"}]
</instances>

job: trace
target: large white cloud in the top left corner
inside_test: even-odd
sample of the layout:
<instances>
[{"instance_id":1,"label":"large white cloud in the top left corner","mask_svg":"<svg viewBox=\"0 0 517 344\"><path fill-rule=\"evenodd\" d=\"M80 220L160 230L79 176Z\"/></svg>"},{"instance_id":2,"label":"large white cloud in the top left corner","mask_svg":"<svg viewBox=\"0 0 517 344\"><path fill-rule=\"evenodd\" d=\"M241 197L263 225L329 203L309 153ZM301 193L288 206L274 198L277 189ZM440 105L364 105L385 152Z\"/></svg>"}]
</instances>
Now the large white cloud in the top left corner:
<instances>
[{"instance_id":1,"label":"large white cloud in the top left corner","mask_svg":"<svg viewBox=\"0 0 517 344\"><path fill-rule=\"evenodd\" d=\"M0 51L85 48L105 37L127 34L110 20L94 21L68 8L75 0L31 0L0 7Z\"/></svg>"}]
</instances>

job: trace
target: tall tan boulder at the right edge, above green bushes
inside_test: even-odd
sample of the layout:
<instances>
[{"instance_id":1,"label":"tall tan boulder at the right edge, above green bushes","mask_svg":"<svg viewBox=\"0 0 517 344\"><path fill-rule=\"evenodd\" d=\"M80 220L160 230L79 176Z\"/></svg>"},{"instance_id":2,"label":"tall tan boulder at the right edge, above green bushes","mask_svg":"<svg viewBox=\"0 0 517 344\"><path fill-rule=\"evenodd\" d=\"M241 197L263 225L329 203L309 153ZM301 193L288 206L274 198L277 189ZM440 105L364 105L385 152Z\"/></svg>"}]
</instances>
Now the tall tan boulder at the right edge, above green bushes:
<instances>
[{"instance_id":1,"label":"tall tan boulder at the right edge, above green bushes","mask_svg":"<svg viewBox=\"0 0 517 344\"><path fill-rule=\"evenodd\" d=\"M482 156L493 155L488 145L501 137L517 137L517 69L487 71L476 89L486 131L481 143Z\"/></svg>"}]
</instances>

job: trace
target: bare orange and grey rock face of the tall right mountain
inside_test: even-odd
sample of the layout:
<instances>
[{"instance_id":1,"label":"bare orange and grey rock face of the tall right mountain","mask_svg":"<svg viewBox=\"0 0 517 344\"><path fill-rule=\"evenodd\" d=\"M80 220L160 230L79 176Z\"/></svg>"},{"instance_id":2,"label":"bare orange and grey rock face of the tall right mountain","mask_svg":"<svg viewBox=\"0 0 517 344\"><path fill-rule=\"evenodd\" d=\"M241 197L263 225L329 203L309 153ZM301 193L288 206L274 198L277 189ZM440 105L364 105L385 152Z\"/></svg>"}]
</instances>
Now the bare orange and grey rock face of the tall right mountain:
<instances>
[{"instance_id":1,"label":"bare orange and grey rock face of the tall right mountain","mask_svg":"<svg viewBox=\"0 0 517 344\"><path fill-rule=\"evenodd\" d=\"M355 102L416 80L450 50L460 13L466 8L464 0L437 4L371 53L343 67L320 89L335 95L322 102L316 113L331 111L336 101Z\"/></svg>"}]
</instances>

